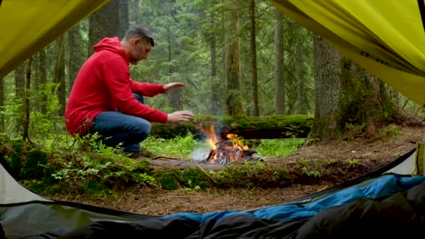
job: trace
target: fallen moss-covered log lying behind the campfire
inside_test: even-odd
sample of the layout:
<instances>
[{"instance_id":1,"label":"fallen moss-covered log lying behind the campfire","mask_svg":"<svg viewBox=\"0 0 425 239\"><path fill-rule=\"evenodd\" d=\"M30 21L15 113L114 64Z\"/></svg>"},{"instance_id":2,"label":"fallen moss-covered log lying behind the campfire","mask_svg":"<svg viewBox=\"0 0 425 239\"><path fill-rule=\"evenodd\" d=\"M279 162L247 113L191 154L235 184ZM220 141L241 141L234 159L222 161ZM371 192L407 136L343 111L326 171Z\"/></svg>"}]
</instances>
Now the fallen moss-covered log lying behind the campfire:
<instances>
[{"instance_id":1,"label":"fallen moss-covered log lying behind the campfire","mask_svg":"<svg viewBox=\"0 0 425 239\"><path fill-rule=\"evenodd\" d=\"M190 132L195 136L202 136L200 124L203 129L208 129L213 124L215 133L219 135L236 133L245 139L306 138L312 126L312 119L312 115L202 116L197 117L193 123L187 124L152 124L151 135L157 138L175 138L176 136L186 136Z\"/></svg>"}]
</instances>

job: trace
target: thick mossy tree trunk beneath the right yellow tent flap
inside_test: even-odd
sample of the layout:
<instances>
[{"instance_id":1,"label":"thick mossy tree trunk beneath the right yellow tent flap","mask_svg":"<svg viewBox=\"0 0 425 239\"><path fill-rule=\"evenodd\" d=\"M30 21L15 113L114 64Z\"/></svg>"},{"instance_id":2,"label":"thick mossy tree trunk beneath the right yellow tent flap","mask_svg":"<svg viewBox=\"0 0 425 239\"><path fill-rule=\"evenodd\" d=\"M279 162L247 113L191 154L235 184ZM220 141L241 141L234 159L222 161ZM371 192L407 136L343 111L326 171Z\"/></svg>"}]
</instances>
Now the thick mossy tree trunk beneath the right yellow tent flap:
<instances>
[{"instance_id":1,"label":"thick mossy tree trunk beneath the right yellow tent flap","mask_svg":"<svg viewBox=\"0 0 425 239\"><path fill-rule=\"evenodd\" d=\"M315 120L308 142L372 136L395 113L384 84L318 36L314 49Z\"/></svg>"}]
</instances>

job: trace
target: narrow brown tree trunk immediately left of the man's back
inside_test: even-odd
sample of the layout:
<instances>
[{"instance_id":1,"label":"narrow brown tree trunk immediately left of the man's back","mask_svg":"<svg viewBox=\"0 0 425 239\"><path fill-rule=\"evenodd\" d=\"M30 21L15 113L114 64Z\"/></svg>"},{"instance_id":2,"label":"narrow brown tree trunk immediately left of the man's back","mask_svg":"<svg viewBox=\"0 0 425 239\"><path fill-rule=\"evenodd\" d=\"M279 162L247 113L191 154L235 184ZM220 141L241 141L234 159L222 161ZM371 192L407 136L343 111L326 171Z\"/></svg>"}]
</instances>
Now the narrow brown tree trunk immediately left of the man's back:
<instances>
[{"instance_id":1,"label":"narrow brown tree trunk immediately left of the man's back","mask_svg":"<svg viewBox=\"0 0 425 239\"><path fill-rule=\"evenodd\" d=\"M57 99L61 108L59 109L59 116L65 114L65 102L66 102L66 80L65 80L65 61L64 61L64 35L59 36L57 40L57 52L56 52L56 64L55 64L55 73L53 79L56 84L59 84L57 89Z\"/></svg>"}]
</instances>

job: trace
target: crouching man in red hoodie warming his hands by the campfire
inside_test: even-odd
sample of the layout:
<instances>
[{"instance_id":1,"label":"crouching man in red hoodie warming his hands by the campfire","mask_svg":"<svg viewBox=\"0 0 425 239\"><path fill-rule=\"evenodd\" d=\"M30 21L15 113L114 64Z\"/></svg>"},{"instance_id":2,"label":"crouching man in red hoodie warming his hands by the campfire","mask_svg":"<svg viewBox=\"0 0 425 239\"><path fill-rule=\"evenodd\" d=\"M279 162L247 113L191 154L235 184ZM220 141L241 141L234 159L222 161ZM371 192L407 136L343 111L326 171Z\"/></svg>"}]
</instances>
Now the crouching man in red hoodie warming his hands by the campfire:
<instances>
[{"instance_id":1,"label":"crouching man in red hoodie warming his hands by the campfire","mask_svg":"<svg viewBox=\"0 0 425 239\"><path fill-rule=\"evenodd\" d=\"M183 87L181 82L166 85L131 80L129 64L146 59L154 39L143 27L129 29L122 41L103 38L94 45L94 54L85 61L68 103L65 119L69 133L84 136L98 132L103 143L136 155L140 143L150 134L150 122L176 124L194 116L187 110L167 114L143 104L143 96L156 96Z\"/></svg>"}]
</instances>

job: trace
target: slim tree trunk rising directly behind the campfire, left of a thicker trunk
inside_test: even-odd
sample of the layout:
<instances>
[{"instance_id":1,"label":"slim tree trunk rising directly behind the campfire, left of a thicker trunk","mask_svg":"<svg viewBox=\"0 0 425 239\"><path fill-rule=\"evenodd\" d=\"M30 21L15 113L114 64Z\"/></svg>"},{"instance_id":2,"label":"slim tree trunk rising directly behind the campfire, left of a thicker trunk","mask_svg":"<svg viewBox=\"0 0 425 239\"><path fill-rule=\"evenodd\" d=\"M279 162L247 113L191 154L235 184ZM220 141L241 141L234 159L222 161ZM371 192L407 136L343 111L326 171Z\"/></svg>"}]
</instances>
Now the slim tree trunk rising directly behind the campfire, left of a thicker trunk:
<instances>
[{"instance_id":1,"label":"slim tree trunk rising directly behind the campfire, left of a thicker trunk","mask_svg":"<svg viewBox=\"0 0 425 239\"><path fill-rule=\"evenodd\" d=\"M215 26L214 15L211 15L210 20L211 26ZM211 115L217 115L219 110L219 101L217 96L217 87L215 85L215 79L217 78L217 64L215 62L216 49L215 49L215 33L212 32L210 35L210 57L211 57Z\"/></svg>"}]
</instances>

